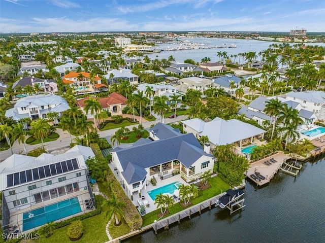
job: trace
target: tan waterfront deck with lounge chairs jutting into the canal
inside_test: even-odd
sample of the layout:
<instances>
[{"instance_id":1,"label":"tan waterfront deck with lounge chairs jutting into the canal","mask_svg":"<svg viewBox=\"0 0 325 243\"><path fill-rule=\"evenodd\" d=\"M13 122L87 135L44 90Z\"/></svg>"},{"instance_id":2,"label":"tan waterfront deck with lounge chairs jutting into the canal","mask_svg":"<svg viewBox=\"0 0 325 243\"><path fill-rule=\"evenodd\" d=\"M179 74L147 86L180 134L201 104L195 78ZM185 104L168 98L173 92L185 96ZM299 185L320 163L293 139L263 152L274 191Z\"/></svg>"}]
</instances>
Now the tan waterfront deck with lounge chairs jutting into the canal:
<instances>
[{"instance_id":1,"label":"tan waterfront deck with lounge chairs jutting into the canal","mask_svg":"<svg viewBox=\"0 0 325 243\"><path fill-rule=\"evenodd\" d=\"M324 144L325 145L325 144ZM256 162L253 162L250 164L250 167L248 168L246 172L246 176L256 183L258 186L263 186L271 181L271 179L274 177L274 175L277 173L279 168L282 166L283 161L286 160L287 154L284 154L282 151L280 151L277 154L274 154L272 156L269 156L267 158L258 160ZM264 162L269 160L271 158L274 158L277 162L272 163L271 165L266 165ZM255 172L261 173L262 176L264 176L266 179L261 180L260 182L256 181L255 179L251 178L250 175L254 174Z\"/></svg>"}]
</instances>

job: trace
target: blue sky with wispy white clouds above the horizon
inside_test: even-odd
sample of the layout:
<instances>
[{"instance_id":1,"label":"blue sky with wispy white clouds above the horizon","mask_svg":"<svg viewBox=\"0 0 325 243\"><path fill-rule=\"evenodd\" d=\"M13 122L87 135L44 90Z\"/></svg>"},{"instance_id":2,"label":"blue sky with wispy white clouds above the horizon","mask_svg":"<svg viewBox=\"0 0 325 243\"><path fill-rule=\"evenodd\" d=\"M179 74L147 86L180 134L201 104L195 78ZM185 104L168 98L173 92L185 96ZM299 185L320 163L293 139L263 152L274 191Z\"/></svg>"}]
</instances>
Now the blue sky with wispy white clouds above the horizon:
<instances>
[{"instance_id":1,"label":"blue sky with wispy white clouds above the horizon","mask_svg":"<svg viewBox=\"0 0 325 243\"><path fill-rule=\"evenodd\" d=\"M0 32L325 32L325 0L0 0Z\"/></svg>"}]
</instances>

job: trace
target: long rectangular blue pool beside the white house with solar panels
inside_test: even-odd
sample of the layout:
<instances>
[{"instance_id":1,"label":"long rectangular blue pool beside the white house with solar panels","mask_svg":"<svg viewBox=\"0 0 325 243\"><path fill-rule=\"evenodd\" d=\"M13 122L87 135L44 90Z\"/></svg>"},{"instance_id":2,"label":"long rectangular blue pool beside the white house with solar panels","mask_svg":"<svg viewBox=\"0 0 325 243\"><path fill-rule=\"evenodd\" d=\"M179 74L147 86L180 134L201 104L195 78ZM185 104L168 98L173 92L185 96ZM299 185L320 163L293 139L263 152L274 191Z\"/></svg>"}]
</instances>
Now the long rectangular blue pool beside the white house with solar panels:
<instances>
[{"instance_id":1,"label":"long rectangular blue pool beside the white house with solar panels","mask_svg":"<svg viewBox=\"0 0 325 243\"><path fill-rule=\"evenodd\" d=\"M40 207L23 214L22 230L26 231L80 212L81 207L78 197Z\"/></svg>"}]
</instances>

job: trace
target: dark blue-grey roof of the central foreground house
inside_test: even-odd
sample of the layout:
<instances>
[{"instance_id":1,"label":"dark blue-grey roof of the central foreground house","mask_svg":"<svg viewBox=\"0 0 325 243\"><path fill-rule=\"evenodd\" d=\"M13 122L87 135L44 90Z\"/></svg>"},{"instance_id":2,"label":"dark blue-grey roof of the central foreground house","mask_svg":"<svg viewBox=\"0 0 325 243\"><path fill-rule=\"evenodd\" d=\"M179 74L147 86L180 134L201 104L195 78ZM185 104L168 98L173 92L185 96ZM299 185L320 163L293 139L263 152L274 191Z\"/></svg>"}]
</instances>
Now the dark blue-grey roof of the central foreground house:
<instances>
[{"instance_id":1,"label":"dark blue-grey roof of the central foreground house","mask_svg":"<svg viewBox=\"0 0 325 243\"><path fill-rule=\"evenodd\" d=\"M113 151L112 151L113 152ZM122 175L128 184L142 181L144 174L142 169L150 168L172 160L179 160L186 167L190 167L198 160L198 156L213 157L204 152L193 133L181 134L148 144L132 146L115 151L122 166ZM201 157L200 156L200 157ZM132 163L132 165L129 165ZM141 169L140 169L141 168ZM136 173L137 175L134 175Z\"/></svg>"}]
</instances>

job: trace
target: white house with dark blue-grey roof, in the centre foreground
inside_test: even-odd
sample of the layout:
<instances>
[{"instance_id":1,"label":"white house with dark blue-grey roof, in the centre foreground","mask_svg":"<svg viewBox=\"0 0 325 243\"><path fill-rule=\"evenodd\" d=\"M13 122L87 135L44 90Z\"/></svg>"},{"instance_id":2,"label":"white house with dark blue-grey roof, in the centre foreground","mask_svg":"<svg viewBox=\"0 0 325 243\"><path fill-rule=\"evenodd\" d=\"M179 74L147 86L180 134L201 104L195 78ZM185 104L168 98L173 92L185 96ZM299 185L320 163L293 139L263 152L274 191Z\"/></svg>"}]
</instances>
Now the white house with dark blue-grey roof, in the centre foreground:
<instances>
[{"instance_id":1,"label":"white house with dark blue-grey roof, in the centre foreground","mask_svg":"<svg viewBox=\"0 0 325 243\"><path fill-rule=\"evenodd\" d=\"M168 125L158 123L152 130L162 129L161 126ZM215 158L210 154L210 146L203 149L191 133L169 134L157 141L148 140L111 152L113 165L128 195L146 189L146 182L151 179L164 180L180 174L183 180L190 182L201 178L205 171L212 171Z\"/></svg>"}]
</instances>

